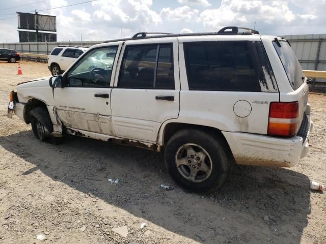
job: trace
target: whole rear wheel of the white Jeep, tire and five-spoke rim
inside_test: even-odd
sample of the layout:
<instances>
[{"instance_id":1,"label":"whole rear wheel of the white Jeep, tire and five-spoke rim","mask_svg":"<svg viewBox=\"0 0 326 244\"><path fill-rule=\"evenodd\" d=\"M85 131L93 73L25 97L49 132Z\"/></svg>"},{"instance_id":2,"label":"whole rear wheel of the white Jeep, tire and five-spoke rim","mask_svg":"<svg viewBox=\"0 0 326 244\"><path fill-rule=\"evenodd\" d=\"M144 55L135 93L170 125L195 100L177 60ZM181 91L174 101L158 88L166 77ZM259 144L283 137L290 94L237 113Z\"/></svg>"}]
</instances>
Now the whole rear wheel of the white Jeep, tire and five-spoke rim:
<instances>
[{"instance_id":1,"label":"whole rear wheel of the white Jeep, tire and five-spoke rim","mask_svg":"<svg viewBox=\"0 0 326 244\"><path fill-rule=\"evenodd\" d=\"M232 163L224 140L193 129L173 135L164 156L172 178L184 189L197 193L221 188Z\"/></svg>"}]
</instances>

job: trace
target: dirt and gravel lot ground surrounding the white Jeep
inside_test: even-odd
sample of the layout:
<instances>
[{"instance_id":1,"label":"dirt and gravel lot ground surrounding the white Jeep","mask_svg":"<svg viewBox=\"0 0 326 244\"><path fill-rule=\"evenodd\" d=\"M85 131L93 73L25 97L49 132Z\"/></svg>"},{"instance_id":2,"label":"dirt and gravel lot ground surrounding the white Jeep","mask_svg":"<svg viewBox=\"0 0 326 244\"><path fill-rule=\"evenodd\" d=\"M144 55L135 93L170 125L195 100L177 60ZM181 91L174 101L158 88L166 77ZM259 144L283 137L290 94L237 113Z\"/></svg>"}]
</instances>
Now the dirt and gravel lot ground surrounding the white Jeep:
<instances>
[{"instance_id":1,"label":"dirt and gravel lot ground surrounding the white Jeep","mask_svg":"<svg viewBox=\"0 0 326 244\"><path fill-rule=\"evenodd\" d=\"M326 194L309 190L310 179L326 184L326 96L309 97L307 158L290 169L239 166L219 192L202 196L175 185L158 153L36 140L30 125L7 118L8 95L50 73L21 62L18 76L17 66L0 63L0 243L326 243ZM125 225L126 238L111 230Z\"/></svg>"}]
</instances>

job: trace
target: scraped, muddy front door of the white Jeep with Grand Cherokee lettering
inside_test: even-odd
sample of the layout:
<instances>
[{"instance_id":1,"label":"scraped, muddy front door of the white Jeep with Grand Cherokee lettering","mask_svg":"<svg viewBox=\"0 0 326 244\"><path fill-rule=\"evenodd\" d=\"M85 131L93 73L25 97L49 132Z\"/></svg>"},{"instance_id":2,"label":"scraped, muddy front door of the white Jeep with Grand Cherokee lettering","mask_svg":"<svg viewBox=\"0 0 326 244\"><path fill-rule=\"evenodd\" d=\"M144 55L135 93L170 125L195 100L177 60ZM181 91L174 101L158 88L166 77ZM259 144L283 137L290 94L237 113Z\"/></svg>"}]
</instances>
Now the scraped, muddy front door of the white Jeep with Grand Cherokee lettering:
<instances>
[{"instance_id":1,"label":"scraped, muddy front door of the white Jeep with Grand Cherokee lettering","mask_svg":"<svg viewBox=\"0 0 326 244\"><path fill-rule=\"evenodd\" d=\"M67 85L53 94L57 115L67 128L114 135L111 74L118 46L89 51L64 77Z\"/></svg>"}]
</instances>

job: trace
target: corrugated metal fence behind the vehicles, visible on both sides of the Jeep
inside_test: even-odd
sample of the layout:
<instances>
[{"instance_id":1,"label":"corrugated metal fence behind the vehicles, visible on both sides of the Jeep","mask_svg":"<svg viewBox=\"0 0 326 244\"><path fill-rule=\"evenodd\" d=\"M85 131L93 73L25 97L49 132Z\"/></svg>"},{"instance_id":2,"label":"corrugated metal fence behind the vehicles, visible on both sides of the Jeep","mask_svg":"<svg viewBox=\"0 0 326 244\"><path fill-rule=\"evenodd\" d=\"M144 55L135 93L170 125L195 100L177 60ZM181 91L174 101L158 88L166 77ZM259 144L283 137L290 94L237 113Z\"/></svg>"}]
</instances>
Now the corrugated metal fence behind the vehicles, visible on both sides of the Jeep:
<instances>
[{"instance_id":1,"label":"corrugated metal fence behind the vehicles, visible on both sides of the Jeep","mask_svg":"<svg viewBox=\"0 0 326 244\"><path fill-rule=\"evenodd\" d=\"M284 36L289 40L292 48L304 70L326 71L326 34L321 35L291 35ZM11 48L18 52L49 54L53 48L60 45L90 47L103 41L84 42L25 42L3 43L0 48ZM325 79L316 79L316 82L326 82Z\"/></svg>"}]
</instances>

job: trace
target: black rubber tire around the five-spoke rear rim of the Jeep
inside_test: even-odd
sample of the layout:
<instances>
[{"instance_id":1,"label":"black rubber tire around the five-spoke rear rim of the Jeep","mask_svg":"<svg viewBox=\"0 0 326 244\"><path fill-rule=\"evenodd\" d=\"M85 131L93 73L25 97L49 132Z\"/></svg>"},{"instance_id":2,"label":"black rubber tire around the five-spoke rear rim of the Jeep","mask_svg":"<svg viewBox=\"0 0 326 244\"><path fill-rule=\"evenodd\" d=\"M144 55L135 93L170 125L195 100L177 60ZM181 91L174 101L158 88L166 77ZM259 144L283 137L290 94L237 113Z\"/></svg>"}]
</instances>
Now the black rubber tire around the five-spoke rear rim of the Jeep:
<instances>
[{"instance_id":1,"label":"black rubber tire around the five-spoke rear rim of the Jeep","mask_svg":"<svg viewBox=\"0 0 326 244\"><path fill-rule=\"evenodd\" d=\"M208 167L210 168L210 174L205 174L205 177L207 178L201 182L193 182L186 179L180 173L180 166L177 167L176 155L180 152L179 149L185 144L196 144L200 146L201 149L204 149L205 153L208 154L206 160L211 159L208 160L211 162L211 164L209 163L211 166ZM165 147L164 158L167 169L172 178L184 189L197 193L212 193L220 189L227 178L231 165L233 164L231 151L223 138L220 138L219 136L213 137L206 132L194 129L182 130L174 134ZM199 161L195 162L196 165ZM182 167L184 169L189 166L182 165ZM191 171L192 169L189 167L189 170Z\"/></svg>"}]
</instances>

